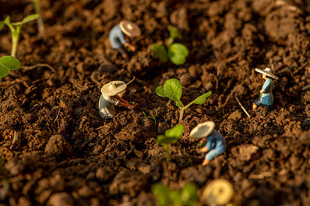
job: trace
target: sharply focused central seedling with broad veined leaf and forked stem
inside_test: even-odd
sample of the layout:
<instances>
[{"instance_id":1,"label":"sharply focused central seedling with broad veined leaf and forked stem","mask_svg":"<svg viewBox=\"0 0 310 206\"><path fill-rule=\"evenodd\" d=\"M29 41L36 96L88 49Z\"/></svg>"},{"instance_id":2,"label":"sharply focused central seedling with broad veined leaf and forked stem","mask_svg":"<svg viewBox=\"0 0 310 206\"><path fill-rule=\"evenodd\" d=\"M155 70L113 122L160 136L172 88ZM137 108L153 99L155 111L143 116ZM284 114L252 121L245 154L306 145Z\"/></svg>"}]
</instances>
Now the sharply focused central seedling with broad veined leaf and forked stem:
<instances>
[{"instance_id":1,"label":"sharply focused central seedling with broad veined leaf and forked stem","mask_svg":"<svg viewBox=\"0 0 310 206\"><path fill-rule=\"evenodd\" d=\"M198 98L196 98L194 101L184 106L180 100L180 97L182 95L182 84L180 84L179 80L174 78L169 79L165 82L165 84L156 87L155 92L160 97L167 97L170 100L174 100L174 102L176 102L176 106L180 108L180 118L178 119L178 123L182 122L185 109L189 108L189 106L191 106L192 104L205 103L205 101L207 101L207 98L211 95L211 91L209 91L208 93L204 93L203 95L200 95Z\"/></svg>"}]
</instances>

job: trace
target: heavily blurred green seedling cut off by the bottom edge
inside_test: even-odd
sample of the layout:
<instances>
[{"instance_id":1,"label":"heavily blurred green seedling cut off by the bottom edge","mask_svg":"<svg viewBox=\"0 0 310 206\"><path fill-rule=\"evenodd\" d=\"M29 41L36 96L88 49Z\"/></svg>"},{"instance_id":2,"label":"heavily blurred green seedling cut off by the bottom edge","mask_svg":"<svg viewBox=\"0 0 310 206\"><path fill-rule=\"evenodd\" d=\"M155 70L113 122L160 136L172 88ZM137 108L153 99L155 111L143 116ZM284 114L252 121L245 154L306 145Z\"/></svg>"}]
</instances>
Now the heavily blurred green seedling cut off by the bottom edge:
<instances>
[{"instance_id":1,"label":"heavily blurred green seedling cut off by the bottom edge","mask_svg":"<svg viewBox=\"0 0 310 206\"><path fill-rule=\"evenodd\" d=\"M157 198L158 206L195 206L197 203L197 187L193 183L186 184L181 190L170 190L163 183L152 185L152 193Z\"/></svg>"}]
</instances>

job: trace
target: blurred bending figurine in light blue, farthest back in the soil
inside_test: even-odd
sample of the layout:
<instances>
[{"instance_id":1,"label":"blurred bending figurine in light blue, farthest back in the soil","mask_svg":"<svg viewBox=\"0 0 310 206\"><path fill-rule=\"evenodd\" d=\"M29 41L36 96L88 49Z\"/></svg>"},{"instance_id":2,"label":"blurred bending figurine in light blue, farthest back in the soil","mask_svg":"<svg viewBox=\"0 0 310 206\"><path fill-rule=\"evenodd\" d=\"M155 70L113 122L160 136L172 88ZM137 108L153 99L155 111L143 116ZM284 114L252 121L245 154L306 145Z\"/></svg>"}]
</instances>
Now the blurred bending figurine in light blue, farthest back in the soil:
<instances>
[{"instance_id":1,"label":"blurred bending figurine in light blue, farthest back in the soil","mask_svg":"<svg viewBox=\"0 0 310 206\"><path fill-rule=\"evenodd\" d=\"M127 52L123 45L130 49L132 52L136 50L134 45L130 44L129 37L141 35L141 29L131 21L121 21L118 25L114 26L109 34L110 44L113 49L116 49L123 58L129 59Z\"/></svg>"}]
</instances>

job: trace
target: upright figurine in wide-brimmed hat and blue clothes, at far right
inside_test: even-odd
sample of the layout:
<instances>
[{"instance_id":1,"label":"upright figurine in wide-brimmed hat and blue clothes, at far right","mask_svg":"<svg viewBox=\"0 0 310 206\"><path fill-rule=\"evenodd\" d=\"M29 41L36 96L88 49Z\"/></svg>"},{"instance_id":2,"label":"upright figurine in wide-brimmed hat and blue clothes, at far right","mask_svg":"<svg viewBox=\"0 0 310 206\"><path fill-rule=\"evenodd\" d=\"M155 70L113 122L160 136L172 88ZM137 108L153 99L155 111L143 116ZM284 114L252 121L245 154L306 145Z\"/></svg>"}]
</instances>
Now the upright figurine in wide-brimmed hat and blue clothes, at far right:
<instances>
[{"instance_id":1,"label":"upright figurine in wide-brimmed hat and blue clothes, at far right","mask_svg":"<svg viewBox=\"0 0 310 206\"><path fill-rule=\"evenodd\" d=\"M268 111L270 111L273 104L272 90L274 88L274 84L272 79L278 80L279 78L273 75L271 73L271 69L268 67L266 67L265 70L256 68L255 71L262 73L262 78L266 81L264 85L262 85L262 89L260 89L260 97L253 103L253 110L256 110L256 108L260 105L265 105L268 106Z\"/></svg>"}]
</instances>

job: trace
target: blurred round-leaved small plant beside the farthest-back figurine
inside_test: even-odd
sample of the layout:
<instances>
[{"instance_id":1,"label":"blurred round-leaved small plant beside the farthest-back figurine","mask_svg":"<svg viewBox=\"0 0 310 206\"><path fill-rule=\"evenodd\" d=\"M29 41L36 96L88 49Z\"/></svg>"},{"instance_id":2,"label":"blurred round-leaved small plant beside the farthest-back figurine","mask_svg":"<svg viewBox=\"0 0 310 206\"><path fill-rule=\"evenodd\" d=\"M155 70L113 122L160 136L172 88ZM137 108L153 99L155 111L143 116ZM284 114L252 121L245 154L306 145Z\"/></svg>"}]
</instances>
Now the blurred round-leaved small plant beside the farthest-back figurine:
<instances>
[{"instance_id":1,"label":"blurred round-leaved small plant beside the farthest-back figurine","mask_svg":"<svg viewBox=\"0 0 310 206\"><path fill-rule=\"evenodd\" d=\"M183 65L188 56L188 49L185 45L181 43L174 43L175 38L182 38L178 29L172 25L168 25L170 36L167 39L165 45L155 43L152 45L151 50L154 52L155 56L161 60L161 62L167 62L169 60L174 63L174 65Z\"/></svg>"}]
</instances>

